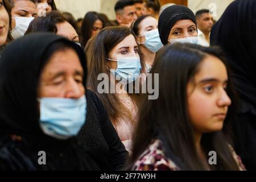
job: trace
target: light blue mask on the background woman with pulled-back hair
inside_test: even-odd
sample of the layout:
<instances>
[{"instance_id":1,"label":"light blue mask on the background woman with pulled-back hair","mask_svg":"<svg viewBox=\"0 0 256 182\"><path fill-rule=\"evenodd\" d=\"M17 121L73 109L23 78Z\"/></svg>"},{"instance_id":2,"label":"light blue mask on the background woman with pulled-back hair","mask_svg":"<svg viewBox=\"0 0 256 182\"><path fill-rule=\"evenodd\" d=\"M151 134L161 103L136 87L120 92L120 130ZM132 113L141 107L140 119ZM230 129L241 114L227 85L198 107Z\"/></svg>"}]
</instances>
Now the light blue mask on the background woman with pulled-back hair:
<instances>
[{"instance_id":1,"label":"light blue mask on the background woman with pulled-back hair","mask_svg":"<svg viewBox=\"0 0 256 182\"><path fill-rule=\"evenodd\" d=\"M148 31L144 34L146 42L142 43L151 52L158 52L163 44L159 37L158 29Z\"/></svg>"}]
</instances>

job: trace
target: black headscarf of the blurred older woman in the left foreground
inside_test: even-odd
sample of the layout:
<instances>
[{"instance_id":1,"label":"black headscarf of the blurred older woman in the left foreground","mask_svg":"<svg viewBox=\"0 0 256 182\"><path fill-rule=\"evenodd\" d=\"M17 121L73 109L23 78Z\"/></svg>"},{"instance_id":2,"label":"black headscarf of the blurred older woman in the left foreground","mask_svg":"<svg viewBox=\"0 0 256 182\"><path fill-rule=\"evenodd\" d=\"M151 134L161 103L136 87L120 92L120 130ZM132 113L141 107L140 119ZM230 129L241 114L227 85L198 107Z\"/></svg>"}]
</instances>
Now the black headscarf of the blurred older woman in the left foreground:
<instances>
[{"instance_id":1,"label":"black headscarf of the blurred older woman in the left foreground","mask_svg":"<svg viewBox=\"0 0 256 182\"><path fill-rule=\"evenodd\" d=\"M57 42L76 51L84 68L85 86L86 59L75 43L50 33L35 33L10 43L0 59L0 139L11 134L26 138L31 152L28 156L35 164L34 152L47 151L46 169L70 169L74 165L77 165L74 169L89 169L90 159L82 154L76 137L59 140L40 129L36 88L48 61L45 58L48 47ZM58 152L63 152L62 160L55 158Z\"/></svg>"}]
</instances>

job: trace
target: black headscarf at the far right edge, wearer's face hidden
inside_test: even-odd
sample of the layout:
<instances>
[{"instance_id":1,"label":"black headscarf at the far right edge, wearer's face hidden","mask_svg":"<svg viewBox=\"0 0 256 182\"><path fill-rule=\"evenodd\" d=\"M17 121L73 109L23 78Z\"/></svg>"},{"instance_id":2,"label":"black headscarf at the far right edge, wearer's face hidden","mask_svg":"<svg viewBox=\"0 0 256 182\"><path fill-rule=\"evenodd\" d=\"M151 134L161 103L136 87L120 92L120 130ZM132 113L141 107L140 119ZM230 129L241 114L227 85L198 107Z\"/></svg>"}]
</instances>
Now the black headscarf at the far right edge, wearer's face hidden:
<instances>
[{"instance_id":1,"label":"black headscarf at the far right edge, wearer's face hidden","mask_svg":"<svg viewBox=\"0 0 256 182\"><path fill-rule=\"evenodd\" d=\"M231 3L213 26L210 45L224 49L240 97L256 108L256 0Z\"/></svg>"}]
</instances>

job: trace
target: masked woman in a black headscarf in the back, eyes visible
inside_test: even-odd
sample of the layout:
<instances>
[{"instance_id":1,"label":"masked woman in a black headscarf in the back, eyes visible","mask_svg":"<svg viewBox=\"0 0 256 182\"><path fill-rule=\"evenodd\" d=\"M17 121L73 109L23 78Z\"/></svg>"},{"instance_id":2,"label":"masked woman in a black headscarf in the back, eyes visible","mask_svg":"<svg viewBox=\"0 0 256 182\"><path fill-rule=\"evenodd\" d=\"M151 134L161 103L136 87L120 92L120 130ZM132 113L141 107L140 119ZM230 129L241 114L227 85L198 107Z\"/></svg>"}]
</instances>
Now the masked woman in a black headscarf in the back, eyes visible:
<instances>
[{"instance_id":1,"label":"masked woman in a black headscarf in the back, eyes visible","mask_svg":"<svg viewBox=\"0 0 256 182\"><path fill-rule=\"evenodd\" d=\"M162 43L197 44L197 25L193 11L183 5L167 7L158 20L159 35Z\"/></svg>"}]
</instances>

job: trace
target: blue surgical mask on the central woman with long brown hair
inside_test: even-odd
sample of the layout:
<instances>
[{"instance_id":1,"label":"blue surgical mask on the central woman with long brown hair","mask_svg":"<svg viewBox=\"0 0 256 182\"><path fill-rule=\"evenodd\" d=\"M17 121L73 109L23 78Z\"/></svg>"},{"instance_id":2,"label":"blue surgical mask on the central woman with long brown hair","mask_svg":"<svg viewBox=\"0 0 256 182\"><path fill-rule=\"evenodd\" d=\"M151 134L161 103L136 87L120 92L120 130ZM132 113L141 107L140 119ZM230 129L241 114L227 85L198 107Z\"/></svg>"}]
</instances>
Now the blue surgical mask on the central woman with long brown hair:
<instances>
[{"instance_id":1,"label":"blue surgical mask on the central woman with long brown hair","mask_svg":"<svg viewBox=\"0 0 256 182\"><path fill-rule=\"evenodd\" d=\"M123 57L117 60L108 59L110 61L117 61L117 69L109 70L113 76L121 80L122 84L129 84L135 81L141 74L141 60L139 57Z\"/></svg>"}]
</instances>

